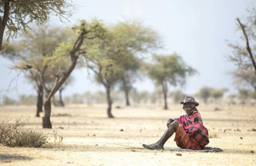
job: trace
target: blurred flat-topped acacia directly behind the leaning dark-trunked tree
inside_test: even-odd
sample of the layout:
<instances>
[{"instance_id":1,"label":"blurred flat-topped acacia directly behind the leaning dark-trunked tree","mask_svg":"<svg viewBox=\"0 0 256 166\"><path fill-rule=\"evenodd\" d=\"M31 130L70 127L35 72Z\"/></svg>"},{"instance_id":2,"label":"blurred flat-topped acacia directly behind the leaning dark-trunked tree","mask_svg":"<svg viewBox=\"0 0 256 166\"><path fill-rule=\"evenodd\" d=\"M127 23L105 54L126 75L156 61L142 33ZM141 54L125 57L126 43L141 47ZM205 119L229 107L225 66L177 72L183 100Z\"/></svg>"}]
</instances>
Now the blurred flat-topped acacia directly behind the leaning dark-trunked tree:
<instances>
[{"instance_id":1,"label":"blurred flat-topped acacia directly behind the leaning dark-trunked tree","mask_svg":"<svg viewBox=\"0 0 256 166\"><path fill-rule=\"evenodd\" d=\"M55 48L62 41L67 41L71 38L70 31L60 27L37 27L25 35L20 41L9 44L3 55L5 58L19 61L20 59L30 64L37 64L39 68L43 66L43 59L46 56L52 56ZM65 67L62 66L62 67ZM47 84L53 84L53 70L43 72L44 81ZM27 79L35 85L37 90L37 112L36 117L39 117L39 112L42 112L43 106L43 85L40 82L38 72L30 70L26 75Z\"/></svg>"}]
</instances>

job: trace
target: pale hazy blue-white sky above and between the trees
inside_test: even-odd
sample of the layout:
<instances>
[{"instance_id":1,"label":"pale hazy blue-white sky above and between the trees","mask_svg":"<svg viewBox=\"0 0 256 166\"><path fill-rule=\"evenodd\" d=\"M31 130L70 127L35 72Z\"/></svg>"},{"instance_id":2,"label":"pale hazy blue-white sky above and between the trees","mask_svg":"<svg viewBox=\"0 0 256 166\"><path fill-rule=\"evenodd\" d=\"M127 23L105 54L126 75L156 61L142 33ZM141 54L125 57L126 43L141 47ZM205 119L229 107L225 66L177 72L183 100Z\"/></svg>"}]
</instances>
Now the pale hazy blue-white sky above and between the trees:
<instances>
[{"instance_id":1,"label":"pale hazy blue-white sky above and between the trees","mask_svg":"<svg viewBox=\"0 0 256 166\"><path fill-rule=\"evenodd\" d=\"M91 20L98 18L111 25L118 21L139 19L145 26L156 30L163 39L164 49L157 53L171 54L174 51L183 57L186 63L198 71L198 74L187 79L183 87L186 94L194 94L203 86L228 88L235 93L235 85L227 72L235 70L226 56L231 54L225 40L240 40L241 32L237 31L236 18L244 18L246 9L255 7L254 1L246 0L214 0L214 1L149 1L149 0L116 0L116 1L82 1L73 0L76 13L70 21L78 19ZM62 24L53 18L50 24ZM0 57L1 87L0 97L8 95L17 98L20 94L36 94L23 74L18 79L18 71L7 67L12 62ZM67 87L64 95L84 93L84 91L104 90L101 85L93 82L93 76L87 76L85 68L72 73L75 81ZM9 83L14 79L9 87ZM149 79L135 84L138 90L153 91L153 83ZM8 88L9 87L9 88ZM171 90L180 87L172 87ZM8 89L8 91L7 91Z\"/></svg>"}]
</instances>

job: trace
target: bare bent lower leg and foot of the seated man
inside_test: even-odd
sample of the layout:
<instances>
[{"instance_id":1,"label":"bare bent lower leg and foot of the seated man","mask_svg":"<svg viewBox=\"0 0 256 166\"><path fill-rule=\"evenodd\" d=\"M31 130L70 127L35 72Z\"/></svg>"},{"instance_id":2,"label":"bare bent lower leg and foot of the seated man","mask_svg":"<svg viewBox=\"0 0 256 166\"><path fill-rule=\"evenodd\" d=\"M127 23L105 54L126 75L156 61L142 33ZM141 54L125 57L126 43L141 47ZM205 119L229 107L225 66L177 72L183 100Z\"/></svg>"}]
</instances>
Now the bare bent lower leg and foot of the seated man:
<instances>
[{"instance_id":1,"label":"bare bent lower leg and foot of the seated man","mask_svg":"<svg viewBox=\"0 0 256 166\"><path fill-rule=\"evenodd\" d=\"M161 148L163 148L163 145L170 138L170 136L172 136L173 133L176 132L178 127L179 127L179 122L178 121L174 121L173 123L171 123L169 125L169 128L164 132L164 134L162 135L160 140L158 140L155 144L150 144L150 145L143 144L143 146L145 148L149 148L149 149L152 149L152 150L153 149L161 149Z\"/></svg>"}]
</instances>

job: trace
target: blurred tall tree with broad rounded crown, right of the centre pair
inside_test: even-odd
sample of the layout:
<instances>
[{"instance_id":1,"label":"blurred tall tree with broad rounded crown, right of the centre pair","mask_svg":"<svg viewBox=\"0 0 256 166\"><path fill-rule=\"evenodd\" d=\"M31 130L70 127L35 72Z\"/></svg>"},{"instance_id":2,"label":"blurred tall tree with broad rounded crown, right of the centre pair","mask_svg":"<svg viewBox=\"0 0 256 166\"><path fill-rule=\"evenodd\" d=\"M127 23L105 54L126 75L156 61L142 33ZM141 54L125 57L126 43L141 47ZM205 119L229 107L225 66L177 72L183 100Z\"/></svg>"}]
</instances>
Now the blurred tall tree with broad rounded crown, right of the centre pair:
<instances>
[{"instance_id":1,"label":"blurred tall tree with broad rounded crown, right of the centre pair","mask_svg":"<svg viewBox=\"0 0 256 166\"><path fill-rule=\"evenodd\" d=\"M118 61L122 69L122 72L119 72L118 82L121 90L124 91L126 105L129 106L129 92L133 88L132 84L139 77L141 66L141 60L137 55L160 48L160 38L156 31L143 26L138 21L119 22L111 27L111 30L116 44L119 45L116 53L126 56L123 61Z\"/></svg>"}]
</instances>

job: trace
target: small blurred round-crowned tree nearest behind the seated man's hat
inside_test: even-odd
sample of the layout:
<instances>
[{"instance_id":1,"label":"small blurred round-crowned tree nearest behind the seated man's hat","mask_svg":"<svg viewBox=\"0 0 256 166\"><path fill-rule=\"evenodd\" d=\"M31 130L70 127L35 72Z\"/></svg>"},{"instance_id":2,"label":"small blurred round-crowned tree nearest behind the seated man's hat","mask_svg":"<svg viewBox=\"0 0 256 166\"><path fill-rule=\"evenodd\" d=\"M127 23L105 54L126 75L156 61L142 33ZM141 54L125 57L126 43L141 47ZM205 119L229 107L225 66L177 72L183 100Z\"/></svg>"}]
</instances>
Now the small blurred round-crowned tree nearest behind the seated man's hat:
<instances>
[{"instance_id":1,"label":"small blurred round-crowned tree nearest behind the seated man's hat","mask_svg":"<svg viewBox=\"0 0 256 166\"><path fill-rule=\"evenodd\" d=\"M188 76L194 75L196 70L185 64L183 59L173 53L171 55L153 55L153 64L146 64L147 75L162 88L164 109L167 110L168 84L176 86L183 85Z\"/></svg>"}]
</instances>

